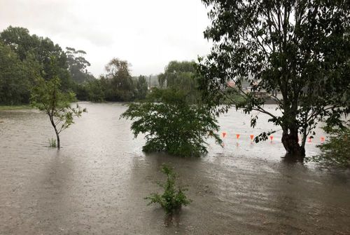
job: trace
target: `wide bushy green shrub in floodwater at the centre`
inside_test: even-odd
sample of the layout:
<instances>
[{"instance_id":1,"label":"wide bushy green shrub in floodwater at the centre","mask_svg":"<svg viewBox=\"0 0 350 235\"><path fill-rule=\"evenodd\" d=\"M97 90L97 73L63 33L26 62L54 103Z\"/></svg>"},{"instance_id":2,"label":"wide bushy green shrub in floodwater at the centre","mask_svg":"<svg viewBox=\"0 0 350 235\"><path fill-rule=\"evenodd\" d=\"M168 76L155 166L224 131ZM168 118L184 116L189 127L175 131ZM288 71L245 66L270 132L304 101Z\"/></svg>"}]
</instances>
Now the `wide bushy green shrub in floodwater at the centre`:
<instances>
[{"instance_id":1,"label":"wide bushy green shrub in floodwater at the centre","mask_svg":"<svg viewBox=\"0 0 350 235\"><path fill-rule=\"evenodd\" d=\"M137 137L146 134L144 152L168 152L176 156L207 153L207 137L221 144L216 119L200 105L190 105L183 90L153 89L145 102L132 103L121 115L134 120Z\"/></svg>"}]
</instances>

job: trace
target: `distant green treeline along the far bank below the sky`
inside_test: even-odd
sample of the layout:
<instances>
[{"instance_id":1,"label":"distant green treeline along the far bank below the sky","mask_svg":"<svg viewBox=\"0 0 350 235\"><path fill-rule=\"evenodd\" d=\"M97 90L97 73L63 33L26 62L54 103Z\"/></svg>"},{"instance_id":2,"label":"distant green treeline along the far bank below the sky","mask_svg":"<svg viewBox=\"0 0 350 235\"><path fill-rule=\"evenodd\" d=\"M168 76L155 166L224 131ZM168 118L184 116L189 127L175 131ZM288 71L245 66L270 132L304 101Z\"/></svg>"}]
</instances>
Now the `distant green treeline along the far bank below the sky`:
<instances>
[{"instance_id":1,"label":"distant green treeline along the far bank below the sky","mask_svg":"<svg viewBox=\"0 0 350 235\"><path fill-rule=\"evenodd\" d=\"M125 102L146 97L149 76L133 77L127 61L113 58L105 67L106 74L95 78L87 70L90 62L85 55L75 48L63 51L52 40L29 34L23 27L4 29L0 33L0 104L28 104L39 77L58 77L62 90L73 91L78 100ZM172 61L164 73L151 77L151 86L181 88L194 98L195 74L195 62Z\"/></svg>"}]
</instances>

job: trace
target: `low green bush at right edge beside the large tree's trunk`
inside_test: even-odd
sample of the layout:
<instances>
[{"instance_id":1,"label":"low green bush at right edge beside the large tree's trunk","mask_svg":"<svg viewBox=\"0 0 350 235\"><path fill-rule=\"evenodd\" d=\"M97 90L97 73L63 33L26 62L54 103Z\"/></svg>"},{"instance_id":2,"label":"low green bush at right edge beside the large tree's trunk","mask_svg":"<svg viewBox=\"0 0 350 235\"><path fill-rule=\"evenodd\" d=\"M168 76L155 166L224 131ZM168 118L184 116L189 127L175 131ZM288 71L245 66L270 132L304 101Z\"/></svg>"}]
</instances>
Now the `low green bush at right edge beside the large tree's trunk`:
<instances>
[{"instance_id":1,"label":"low green bush at right edge beside the large tree's trunk","mask_svg":"<svg viewBox=\"0 0 350 235\"><path fill-rule=\"evenodd\" d=\"M326 128L330 140L318 145L322 154L311 156L307 161L314 161L321 167L350 168L350 128Z\"/></svg>"}]
</instances>

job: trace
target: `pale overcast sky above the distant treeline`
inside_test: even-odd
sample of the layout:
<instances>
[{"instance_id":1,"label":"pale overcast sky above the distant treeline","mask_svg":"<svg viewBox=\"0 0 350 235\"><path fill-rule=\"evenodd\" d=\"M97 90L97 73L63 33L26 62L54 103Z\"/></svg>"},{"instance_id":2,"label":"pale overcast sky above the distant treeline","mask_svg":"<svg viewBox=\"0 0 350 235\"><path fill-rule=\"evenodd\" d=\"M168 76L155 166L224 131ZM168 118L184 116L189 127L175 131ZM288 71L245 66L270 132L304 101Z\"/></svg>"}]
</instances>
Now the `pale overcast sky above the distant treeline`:
<instances>
[{"instance_id":1,"label":"pale overcast sky above the distant treeline","mask_svg":"<svg viewBox=\"0 0 350 235\"><path fill-rule=\"evenodd\" d=\"M137 76L210 50L200 0L0 0L0 30L9 25L86 51L95 76L113 57L129 61Z\"/></svg>"}]
</instances>

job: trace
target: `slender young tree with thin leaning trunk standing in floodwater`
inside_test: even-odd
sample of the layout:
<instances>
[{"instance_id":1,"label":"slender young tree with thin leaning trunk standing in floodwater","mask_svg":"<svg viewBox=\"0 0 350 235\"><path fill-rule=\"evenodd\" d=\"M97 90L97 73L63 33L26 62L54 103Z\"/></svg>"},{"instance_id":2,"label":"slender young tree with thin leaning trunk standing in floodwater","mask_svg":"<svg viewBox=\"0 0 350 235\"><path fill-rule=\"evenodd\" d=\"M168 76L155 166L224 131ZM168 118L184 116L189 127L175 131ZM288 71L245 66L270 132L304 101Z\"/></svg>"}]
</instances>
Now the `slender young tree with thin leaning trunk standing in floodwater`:
<instances>
[{"instance_id":1,"label":"slender young tree with thin leaning trunk standing in floodwater","mask_svg":"<svg viewBox=\"0 0 350 235\"><path fill-rule=\"evenodd\" d=\"M81 109L77 104L71 107L71 102L76 101L74 93L63 93L60 90L60 80L57 77L45 81L38 79L31 92L31 104L48 115L57 137L57 148L60 147L59 133L73 124L75 117L80 117L86 109Z\"/></svg>"}]
</instances>

